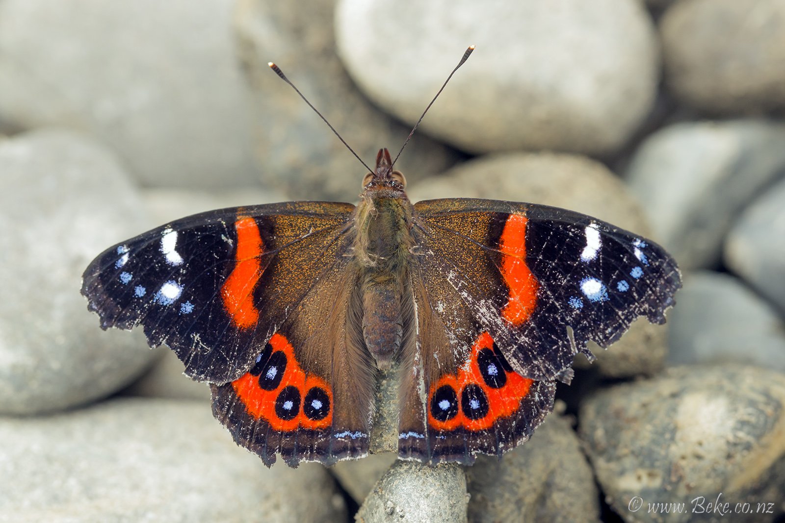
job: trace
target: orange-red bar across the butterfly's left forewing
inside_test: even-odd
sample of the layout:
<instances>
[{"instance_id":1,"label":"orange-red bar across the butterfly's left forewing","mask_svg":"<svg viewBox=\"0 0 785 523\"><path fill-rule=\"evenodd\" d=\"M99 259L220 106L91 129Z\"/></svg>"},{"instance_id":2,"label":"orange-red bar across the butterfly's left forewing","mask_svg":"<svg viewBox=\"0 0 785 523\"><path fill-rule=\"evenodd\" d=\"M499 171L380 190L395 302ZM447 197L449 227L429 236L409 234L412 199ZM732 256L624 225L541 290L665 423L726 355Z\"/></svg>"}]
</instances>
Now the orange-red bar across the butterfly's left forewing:
<instances>
[{"instance_id":1,"label":"orange-red bar across the butterfly's left forewing","mask_svg":"<svg viewBox=\"0 0 785 523\"><path fill-rule=\"evenodd\" d=\"M235 267L221 287L221 297L232 324L248 329L259 319L259 311L254 305L254 289L261 278L259 256L265 252L265 245L256 220L250 216L240 217L235 222L235 231Z\"/></svg>"}]
</instances>

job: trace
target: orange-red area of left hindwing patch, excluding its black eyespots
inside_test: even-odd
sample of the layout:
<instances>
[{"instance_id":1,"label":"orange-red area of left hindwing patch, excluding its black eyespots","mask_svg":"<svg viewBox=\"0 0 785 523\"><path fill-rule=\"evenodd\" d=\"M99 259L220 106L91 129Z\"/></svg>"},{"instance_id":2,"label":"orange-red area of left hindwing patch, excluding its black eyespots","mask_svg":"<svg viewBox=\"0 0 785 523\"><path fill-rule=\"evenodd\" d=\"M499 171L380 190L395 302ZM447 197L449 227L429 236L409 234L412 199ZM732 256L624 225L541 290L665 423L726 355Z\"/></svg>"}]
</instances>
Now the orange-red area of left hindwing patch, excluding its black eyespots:
<instances>
[{"instance_id":1,"label":"orange-red area of left hindwing patch, excluding its black eyespots","mask_svg":"<svg viewBox=\"0 0 785 523\"><path fill-rule=\"evenodd\" d=\"M325 429L333 423L333 393L325 380L313 374L306 374L294 357L294 347L286 337L276 333L269 341L272 352L277 350L286 354L287 367L283 372L278 387L275 390L263 390L259 387L259 376L246 372L238 380L232 382L232 387L245 405L246 411L254 418L263 418L274 430L290 432L300 427L305 429ZM276 398L284 387L297 387L300 392L300 407L298 415L293 419L281 419L276 414ZM303 412L302 403L305 395L313 387L319 387L327 393L330 401L330 411L323 419L309 419Z\"/></svg>"}]
</instances>

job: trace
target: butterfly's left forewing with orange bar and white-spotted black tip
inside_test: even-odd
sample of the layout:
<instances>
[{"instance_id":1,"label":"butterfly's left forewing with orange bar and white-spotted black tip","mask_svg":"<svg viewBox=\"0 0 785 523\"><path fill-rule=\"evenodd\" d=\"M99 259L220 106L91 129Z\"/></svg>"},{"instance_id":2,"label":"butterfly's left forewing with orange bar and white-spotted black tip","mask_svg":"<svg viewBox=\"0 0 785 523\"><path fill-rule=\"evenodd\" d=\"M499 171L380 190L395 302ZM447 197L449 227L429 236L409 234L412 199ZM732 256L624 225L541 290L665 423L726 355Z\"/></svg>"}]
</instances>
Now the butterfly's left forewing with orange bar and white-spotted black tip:
<instances>
[{"instance_id":1,"label":"butterfly's left forewing with orange bar and white-spotted black tip","mask_svg":"<svg viewBox=\"0 0 785 523\"><path fill-rule=\"evenodd\" d=\"M294 202L188 216L101 253L82 294L104 329L141 325L188 376L231 381L341 257L352 210Z\"/></svg>"}]
</instances>

